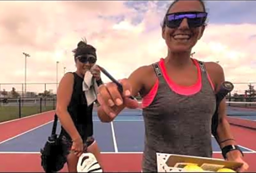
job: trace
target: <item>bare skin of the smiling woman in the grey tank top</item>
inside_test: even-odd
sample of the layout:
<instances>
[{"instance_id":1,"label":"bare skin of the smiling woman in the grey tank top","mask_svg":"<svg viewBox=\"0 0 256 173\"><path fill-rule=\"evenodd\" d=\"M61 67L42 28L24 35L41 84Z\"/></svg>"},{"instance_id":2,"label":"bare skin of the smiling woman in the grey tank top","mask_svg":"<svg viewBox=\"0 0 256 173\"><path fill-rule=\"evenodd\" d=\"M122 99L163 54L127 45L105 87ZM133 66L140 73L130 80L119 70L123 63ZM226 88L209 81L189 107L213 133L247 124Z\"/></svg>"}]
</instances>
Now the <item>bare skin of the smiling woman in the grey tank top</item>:
<instances>
[{"instance_id":1,"label":"bare skin of the smiling woman in the grey tank top","mask_svg":"<svg viewBox=\"0 0 256 173\"><path fill-rule=\"evenodd\" d=\"M198 0L182 0L178 1L171 7L168 13L185 12L185 11L201 11L203 7ZM205 26L197 28L189 28L187 19L184 19L178 28L171 29L164 26L162 29L162 38L165 40L168 52L164 59L164 64L167 69L167 75L171 76L172 80L181 86L190 86L197 81L197 68L193 64L190 54L191 49L196 45L197 41L203 36ZM183 42L175 40L175 34L189 34L191 37L188 41ZM217 93L222 82L225 81L222 67L215 62L205 62L208 74L214 85L214 90ZM98 117L102 122L113 121L123 108L138 108L139 104L135 100L128 98L130 95L145 96L156 82L157 76L151 65L142 66L136 69L128 79L120 80L123 85L124 92L120 94L117 86L114 83L108 83L99 87L98 101L101 106L98 108ZM234 139L230 124L226 119L226 100L220 103L219 108L219 125L217 128L218 141L223 141L229 138ZM219 143L220 144L220 143ZM226 145L237 145L234 140L228 140L220 144L223 148ZM248 164L243 161L242 155L238 150L233 150L227 153L227 160L233 160L243 163L239 172L244 172L248 169Z\"/></svg>"}]
</instances>

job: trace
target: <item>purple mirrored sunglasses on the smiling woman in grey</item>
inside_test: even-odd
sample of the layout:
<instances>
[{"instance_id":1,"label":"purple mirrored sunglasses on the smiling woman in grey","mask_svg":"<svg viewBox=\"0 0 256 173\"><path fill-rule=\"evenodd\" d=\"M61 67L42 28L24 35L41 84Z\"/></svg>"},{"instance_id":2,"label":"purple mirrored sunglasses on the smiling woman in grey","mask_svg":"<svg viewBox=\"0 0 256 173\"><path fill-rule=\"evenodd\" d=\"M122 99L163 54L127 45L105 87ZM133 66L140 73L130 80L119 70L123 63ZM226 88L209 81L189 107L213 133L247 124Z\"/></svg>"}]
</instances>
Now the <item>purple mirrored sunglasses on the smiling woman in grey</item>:
<instances>
[{"instance_id":1,"label":"purple mirrored sunglasses on the smiling woman in grey","mask_svg":"<svg viewBox=\"0 0 256 173\"><path fill-rule=\"evenodd\" d=\"M187 23L190 28L203 26L206 21L206 12L180 12L170 13L165 16L166 26L169 28L177 28L181 22L187 18Z\"/></svg>"}]
</instances>

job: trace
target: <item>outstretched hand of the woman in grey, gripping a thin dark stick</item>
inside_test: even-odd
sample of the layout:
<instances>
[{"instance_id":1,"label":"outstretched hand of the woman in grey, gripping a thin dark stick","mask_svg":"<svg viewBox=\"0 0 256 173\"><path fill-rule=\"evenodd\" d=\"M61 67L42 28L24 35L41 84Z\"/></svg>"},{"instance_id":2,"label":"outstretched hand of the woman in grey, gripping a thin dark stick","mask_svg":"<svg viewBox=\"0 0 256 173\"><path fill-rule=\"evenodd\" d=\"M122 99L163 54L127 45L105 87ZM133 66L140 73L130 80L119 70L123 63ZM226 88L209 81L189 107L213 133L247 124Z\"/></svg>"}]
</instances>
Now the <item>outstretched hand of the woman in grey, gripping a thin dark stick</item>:
<instances>
[{"instance_id":1,"label":"outstretched hand of the woman in grey, gripping a thin dark stick","mask_svg":"<svg viewBox=\"0 0 256 173\"><path fill-rule=\"evenodd\" d=\"M128 79L119 81L123 86L123 93L118 91L117 85L114 82L109 82L101 85L98 88L97 99L101 107L101 111L108 115L109 118L114 119L117 114L125 107L138 108L137 100L129 98L131 96L131 84Z\"/></svg>"}]
</instances>

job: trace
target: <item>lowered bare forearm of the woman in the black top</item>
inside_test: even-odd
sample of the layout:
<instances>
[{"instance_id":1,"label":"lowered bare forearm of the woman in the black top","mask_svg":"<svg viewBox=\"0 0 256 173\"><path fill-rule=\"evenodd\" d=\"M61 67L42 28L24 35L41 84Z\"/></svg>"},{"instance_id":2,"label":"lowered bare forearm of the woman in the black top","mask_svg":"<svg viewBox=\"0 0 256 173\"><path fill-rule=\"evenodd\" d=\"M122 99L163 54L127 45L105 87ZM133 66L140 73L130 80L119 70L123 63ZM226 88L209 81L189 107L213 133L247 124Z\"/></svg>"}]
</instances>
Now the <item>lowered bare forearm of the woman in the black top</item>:
<instances>
[{"instance_id":1,"label":"lowered bare forearm of the woman in the black top","mask_svg":"<svg viewBox=\"0 0 256 173\"><path fill-rule=\"evenodd\" d=\"M77 140L80 137L75 124L73 123L72 118L69 115L68 111L56 110L56 114L59 118L59 121L62 127L66 130L72 140Z\"/></svg>"}]
</instances>

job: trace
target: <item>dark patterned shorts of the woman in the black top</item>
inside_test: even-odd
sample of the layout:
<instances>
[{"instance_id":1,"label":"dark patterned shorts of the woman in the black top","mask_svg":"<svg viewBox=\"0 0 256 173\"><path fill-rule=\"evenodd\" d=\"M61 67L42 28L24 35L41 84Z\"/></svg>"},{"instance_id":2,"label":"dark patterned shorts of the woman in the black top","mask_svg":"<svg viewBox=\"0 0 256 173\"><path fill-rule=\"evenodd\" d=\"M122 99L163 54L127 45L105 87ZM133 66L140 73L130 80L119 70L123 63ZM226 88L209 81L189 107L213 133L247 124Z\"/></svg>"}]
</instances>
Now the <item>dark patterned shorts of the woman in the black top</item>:
<instances>
[{"instance_id":1,"label":"dark patterned shorts of the woman in the black top","mask_svg":"<svg viewBox=\"0 0 256 173\"><path fill-rule=\"evenodd\" d=\"M67 148L67 154L70 153L70 150L71 150L71 147L72 147L72 140L70 138L67 138L66 136L61 136L60 137L61 141L62 141L62 144L63 145L66 145L66 148ZM83 144L84 144L84 152L86 152L87 148L92 145L93 143L95 142L95 139L94 137L87 137L86 140L83 140Z\"/></svg>"}]
</instances>

